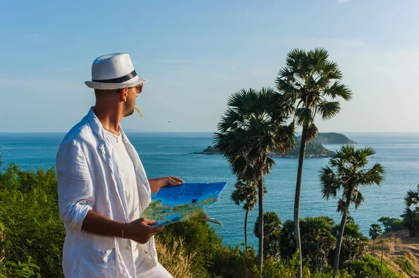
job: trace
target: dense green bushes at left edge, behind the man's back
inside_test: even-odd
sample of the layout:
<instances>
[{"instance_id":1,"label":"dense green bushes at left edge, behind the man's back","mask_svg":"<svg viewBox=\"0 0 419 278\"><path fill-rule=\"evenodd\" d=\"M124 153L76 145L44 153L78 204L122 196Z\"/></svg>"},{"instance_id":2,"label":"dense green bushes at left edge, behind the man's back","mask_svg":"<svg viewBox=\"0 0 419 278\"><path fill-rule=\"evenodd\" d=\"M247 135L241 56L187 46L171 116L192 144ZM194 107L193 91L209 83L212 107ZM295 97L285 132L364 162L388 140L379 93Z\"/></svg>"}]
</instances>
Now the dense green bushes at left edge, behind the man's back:
<instances>
[{"instance_id":1,"label":"dense green bushes at left edge, behind the man's back","mask_svg":"<svg viewBox=\"0 0 419 278\"><path fill-rule=\"evenodd\" d=\"M63 277L65 230L54 169L22 171L10 164L0 171L0 233L0 275Z\"/></svg>"}]
</instances>

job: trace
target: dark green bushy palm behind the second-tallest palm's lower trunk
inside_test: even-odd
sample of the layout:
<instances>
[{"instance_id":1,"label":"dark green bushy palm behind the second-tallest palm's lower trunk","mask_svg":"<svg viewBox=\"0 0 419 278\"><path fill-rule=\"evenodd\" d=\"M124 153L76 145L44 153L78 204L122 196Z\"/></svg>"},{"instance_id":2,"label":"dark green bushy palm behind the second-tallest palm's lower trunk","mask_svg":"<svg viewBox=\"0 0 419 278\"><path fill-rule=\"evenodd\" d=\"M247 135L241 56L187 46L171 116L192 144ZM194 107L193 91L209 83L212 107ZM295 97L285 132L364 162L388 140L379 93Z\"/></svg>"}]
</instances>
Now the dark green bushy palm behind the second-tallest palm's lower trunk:
<instances>
[{"instance_id":1,"label":"dark green bushy palm behind the second-tallest palm's lower trunk","mask_svg":"<svg viewBox=\"0 0 419 278\"><path fill-rule=\"evenodd\" d=\"M259 238L259 217L256 218L253 233ZM281 232L281 219L277 213L263 213L263 255L277 258L279 255L279 233Z\"/></svg>"}]
</instances>

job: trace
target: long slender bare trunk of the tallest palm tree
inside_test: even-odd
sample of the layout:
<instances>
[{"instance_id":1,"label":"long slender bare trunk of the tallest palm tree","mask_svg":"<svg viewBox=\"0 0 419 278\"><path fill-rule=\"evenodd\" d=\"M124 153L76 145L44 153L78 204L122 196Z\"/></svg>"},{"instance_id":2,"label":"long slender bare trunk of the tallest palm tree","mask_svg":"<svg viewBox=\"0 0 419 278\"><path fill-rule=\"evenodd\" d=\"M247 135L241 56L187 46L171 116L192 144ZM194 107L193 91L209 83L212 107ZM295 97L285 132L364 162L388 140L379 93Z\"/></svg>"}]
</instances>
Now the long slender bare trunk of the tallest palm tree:
<instances>
[{"instance_id":1,"label":"long slender bare trunk of the tallest palm tree","mask_svg":"<svg viewBox=\"0 0 419 278\"><path fill-rule=\"evenodd\" d=\"M297 278L302 277L302 253L301 253L301 238L300 238L300 197L301 197L301 181L302 181L302 167L304 165L304 155L307 138L307 126L302 127L300 157L298 157L298 171L297 184L295 185L295 200L294 200L294 233L295 233L295 247L298 249L298 261L300 265L297 268Z\"/></svg>"}]
</instances>

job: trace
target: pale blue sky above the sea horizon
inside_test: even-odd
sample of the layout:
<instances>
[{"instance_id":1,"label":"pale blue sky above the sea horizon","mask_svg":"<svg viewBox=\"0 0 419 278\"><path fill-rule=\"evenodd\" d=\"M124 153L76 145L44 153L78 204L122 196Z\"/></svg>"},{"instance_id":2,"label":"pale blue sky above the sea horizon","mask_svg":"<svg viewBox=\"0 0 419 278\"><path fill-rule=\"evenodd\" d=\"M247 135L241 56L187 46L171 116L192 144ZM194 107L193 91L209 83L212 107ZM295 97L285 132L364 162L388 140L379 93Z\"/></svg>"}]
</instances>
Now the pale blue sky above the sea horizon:
<instances>
[{"instance_id":1,"label":"pale blue sky above the sea horizon","mask_svg":"<svg viewBox=\"0 0 419 278\"><path fill-rule=\"evenodd\" d=\"M39 4L42 3L42 4ZM419 1L1 1L0 132L66 132L94 105L97 56L149 79L126 129L215 131L231 93L325 47L354 98L323 131L419 132ZM170 123L168 123L170 121Z\"/></svg>"}]
</instances>

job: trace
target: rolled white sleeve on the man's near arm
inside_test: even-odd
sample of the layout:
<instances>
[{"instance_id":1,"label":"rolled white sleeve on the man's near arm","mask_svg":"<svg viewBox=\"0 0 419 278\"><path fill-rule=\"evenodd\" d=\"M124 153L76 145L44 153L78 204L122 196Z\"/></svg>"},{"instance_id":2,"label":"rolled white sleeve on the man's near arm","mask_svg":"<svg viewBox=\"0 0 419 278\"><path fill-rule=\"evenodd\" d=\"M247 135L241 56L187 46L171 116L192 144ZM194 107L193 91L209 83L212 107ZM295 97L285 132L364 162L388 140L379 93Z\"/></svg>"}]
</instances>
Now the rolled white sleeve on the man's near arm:
<instances>
[{"instance_id":1,"label":"rolled white sleeve on the man's near arm","mask_svg":"<svg viewBox=\"0 0 419 278\"><path fill-rule=\"evenodd\" d=\"M62 222L81 231L84 217L94 205L94 188L86 157L77 141L61 144L57 153L59 213Z\"/></svg>"}]
</instances>

